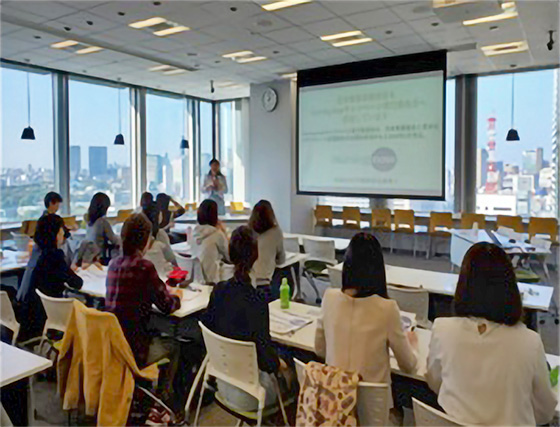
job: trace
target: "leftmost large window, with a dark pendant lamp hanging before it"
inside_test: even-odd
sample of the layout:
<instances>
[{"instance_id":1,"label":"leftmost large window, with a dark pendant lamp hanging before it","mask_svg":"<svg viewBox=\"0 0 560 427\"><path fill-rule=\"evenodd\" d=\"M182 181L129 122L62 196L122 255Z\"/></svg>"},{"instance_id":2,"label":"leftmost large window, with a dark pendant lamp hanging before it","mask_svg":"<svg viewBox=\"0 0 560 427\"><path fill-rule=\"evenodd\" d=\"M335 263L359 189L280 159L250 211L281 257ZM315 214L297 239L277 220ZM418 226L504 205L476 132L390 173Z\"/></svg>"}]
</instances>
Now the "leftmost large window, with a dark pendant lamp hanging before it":
<instances>
[{"instance_id":1,"label":"leftmost large window, with a dark pendant lamp hanging before it","mask_svg":"<svg viewBox=\"0 0 560 427\"><path fill-rule=\"evenodd\" d=\"M54 188L52 75L2 68L2 168L0 221L36 219ZM31 122L28 123L27 78ZM22 140L31 125L35 140Z\"/></svg>"}]
</instances>

